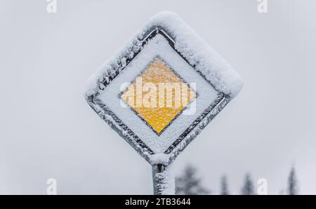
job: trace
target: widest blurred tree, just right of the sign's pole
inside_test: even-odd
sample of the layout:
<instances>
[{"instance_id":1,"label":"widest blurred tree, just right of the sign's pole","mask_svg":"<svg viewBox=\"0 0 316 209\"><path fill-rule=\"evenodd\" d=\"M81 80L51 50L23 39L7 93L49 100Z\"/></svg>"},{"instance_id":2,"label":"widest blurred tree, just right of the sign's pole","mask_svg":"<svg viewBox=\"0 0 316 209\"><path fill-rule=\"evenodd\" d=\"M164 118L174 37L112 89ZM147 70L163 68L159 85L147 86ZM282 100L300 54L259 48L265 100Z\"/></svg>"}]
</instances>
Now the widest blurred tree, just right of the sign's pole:
<instances>
[{"instance_id":1,"label":"widest blurred tree, just right of the sign's pole","mask_svg":"<svg viewBox=\"0 0 316 209\"><path fill-rule=\"evenodd\" d=\"M176 194L197 195L209 194L209 190L201 184L197 178L197 169L193 166L186 166L183 175L176 177Z\"/></svg>"}]
</instances>

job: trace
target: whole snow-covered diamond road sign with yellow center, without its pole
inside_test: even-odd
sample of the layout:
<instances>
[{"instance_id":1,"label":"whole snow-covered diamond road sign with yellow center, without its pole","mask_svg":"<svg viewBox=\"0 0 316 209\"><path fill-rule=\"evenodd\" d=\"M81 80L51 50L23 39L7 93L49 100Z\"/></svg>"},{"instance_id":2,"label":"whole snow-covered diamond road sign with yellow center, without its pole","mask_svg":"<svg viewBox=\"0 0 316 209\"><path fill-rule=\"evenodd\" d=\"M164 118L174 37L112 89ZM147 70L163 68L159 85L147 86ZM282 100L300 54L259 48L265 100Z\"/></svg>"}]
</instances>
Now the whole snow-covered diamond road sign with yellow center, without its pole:
<instances>
[{"instance_id":1,"label":"whole snow-covered diamond road sign with yellow center, without its pole","mask_svg":"<svg viewBox=\"0 0 316 209\"><path fill-rule=\"evenodd\" d=\"M88 82L86 100L152 165L168 166L242 88L178 15L155 15Z\"/></svg>"}]
</instances>

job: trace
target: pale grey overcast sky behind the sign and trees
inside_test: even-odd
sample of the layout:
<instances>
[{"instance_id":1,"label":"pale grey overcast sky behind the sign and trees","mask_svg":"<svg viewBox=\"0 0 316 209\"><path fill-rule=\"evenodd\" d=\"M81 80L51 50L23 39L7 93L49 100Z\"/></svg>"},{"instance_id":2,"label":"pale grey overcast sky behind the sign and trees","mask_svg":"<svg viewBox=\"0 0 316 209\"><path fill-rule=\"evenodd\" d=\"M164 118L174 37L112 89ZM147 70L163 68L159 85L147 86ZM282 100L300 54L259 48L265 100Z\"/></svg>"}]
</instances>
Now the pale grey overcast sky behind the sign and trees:
<instances>
[{"instance_id":1,"label":"pale grey overcast sky behind the sign and trees","mask_svg":"<svg viewBox=\"0 0 316 209\"><path fill-rule=\"evenodd\" d=\"M244 174L316 194L316 1L0 1L0 194L152 194L151 167L84 100L86 79L152 15L174 11L244 79L181 154L206 187L238 194Z\"/></svg>"}]
</instances>

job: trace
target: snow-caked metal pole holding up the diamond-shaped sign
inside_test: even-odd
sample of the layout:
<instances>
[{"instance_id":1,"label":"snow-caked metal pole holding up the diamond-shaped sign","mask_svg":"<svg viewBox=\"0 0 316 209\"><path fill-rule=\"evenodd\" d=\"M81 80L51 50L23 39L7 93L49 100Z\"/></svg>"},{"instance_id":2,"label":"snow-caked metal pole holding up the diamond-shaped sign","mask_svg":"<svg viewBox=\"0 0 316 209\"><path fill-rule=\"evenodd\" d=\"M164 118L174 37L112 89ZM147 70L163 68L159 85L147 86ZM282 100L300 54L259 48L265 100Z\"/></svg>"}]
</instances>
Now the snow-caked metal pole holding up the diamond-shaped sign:
<instances>
[{"instance_id":1,"label":"snow-caked metal pole holding up the diamond-shaped sign","mask_svg":"<svg viewBox=\"0 0 316 209\"><path fill-rule=\"evenodd\" d=\"M152 182L154 195L174 194L174 177L169 172L169 167L163 164L152 166Z\"/></svg>"}]
</instances>

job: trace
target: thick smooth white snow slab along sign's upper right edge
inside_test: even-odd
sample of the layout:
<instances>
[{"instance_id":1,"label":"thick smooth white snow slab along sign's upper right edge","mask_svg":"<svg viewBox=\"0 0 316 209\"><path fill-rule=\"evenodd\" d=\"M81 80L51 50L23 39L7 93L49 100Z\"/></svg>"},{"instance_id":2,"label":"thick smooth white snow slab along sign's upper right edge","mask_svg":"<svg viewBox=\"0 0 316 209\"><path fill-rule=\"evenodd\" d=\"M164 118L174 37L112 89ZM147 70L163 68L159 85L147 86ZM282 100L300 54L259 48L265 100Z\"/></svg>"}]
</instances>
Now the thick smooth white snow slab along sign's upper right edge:
<instances>
[{"instance_id":1,"label":"thick smooth white snow slab along sign's upper right edge","mask_svg":"<svg viewBox=\"0 0 316 209\"><path fill-rule=\"evenodd\" d=\"M216 90L231 97L239 93L243 86L239 74L176 13L158 13L147 22L145 28L150 29L155 25L161 25L173 35L176 49L211 81Z\"/></svg>"}]
</instances>

